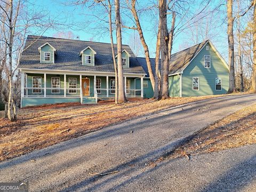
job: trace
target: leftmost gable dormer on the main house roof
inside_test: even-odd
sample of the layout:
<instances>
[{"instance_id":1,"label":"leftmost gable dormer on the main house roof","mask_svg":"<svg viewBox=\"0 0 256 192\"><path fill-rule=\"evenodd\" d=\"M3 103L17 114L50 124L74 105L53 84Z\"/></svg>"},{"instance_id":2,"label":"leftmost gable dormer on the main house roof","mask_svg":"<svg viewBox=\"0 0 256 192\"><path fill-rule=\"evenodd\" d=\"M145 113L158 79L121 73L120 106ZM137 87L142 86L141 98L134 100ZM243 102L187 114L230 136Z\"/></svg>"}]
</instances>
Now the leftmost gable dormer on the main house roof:
<instances>
[{"instance_id":1,"label":"leftmost gable dormer on the main house roof","mask_svg":"<svg viewBox=\"0 0 256 192\"><path fill-rule=\"evenodd\" d=\"M41 63L54 63L56 49L48 42L38 47Z\"/></svg>"}]
</instances>

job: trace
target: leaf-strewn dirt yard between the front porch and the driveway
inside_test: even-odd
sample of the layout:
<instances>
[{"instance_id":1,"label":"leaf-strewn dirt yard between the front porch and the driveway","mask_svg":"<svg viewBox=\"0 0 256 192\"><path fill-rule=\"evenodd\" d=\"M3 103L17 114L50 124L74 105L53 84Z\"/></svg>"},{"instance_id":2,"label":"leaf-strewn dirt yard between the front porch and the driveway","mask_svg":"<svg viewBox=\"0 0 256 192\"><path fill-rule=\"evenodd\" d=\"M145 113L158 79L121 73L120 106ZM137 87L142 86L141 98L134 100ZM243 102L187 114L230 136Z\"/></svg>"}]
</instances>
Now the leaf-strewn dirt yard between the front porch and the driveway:
<instances>
[{"instance_id":1,"label":"leaf-strewn dirt yard between the front porch and the driveway","mask_svg":"<svg viewBox=\"0 0 256 192\"><path fill-rule=\"evenodd\" d=\"M170 98L162 101L135 100L119 105L102 102L98 105L61 103L36 106L20 109L17 122L4 119L1 111L0 161L76 138L127 119L212 97L218 96Z\"/></svg>"}]
</instances>

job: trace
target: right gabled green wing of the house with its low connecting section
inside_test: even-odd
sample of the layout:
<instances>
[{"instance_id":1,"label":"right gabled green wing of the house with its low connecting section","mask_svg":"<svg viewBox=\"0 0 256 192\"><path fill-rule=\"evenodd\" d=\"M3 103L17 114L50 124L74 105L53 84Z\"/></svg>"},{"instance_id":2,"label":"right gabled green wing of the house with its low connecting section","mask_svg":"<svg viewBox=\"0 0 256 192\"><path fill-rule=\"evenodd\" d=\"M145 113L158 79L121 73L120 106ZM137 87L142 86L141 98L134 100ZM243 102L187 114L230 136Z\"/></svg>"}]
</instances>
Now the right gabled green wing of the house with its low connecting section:
<instances>
[{"instance_id":1,"label":"right gabled green wing of the house with its low connecting section","mask_svg":"<svg viewBox=\"0 0 256 192\"><path fill-rule=\"evenodd\" d=\"M145 58L137 58L146 71L144 97L154 96ZM150 59L155 65L155 59ZM229 87L229 66L210 40L191 46L171 56L169 68L170 97L225 94Z\"/></svg>"}]
</instances>

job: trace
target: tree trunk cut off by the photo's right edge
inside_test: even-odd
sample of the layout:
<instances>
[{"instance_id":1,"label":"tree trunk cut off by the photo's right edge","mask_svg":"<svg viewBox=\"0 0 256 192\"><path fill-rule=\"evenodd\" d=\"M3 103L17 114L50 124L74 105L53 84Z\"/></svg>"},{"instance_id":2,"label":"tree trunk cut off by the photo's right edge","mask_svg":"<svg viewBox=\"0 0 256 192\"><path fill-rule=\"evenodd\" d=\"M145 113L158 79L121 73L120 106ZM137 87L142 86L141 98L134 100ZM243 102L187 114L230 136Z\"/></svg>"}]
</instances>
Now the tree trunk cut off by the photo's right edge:
<instances>
[{"instance_id":1,"label":"tree trunk cut off by the photo's right edge","mask_svg":"<svg viewBox=\"0 0 256 192\"><path fill-rule=\"evenodd\" d=\"M256 0L253 1L253 68L252 91L256 93Z\"/></svg>"}]
</instances>

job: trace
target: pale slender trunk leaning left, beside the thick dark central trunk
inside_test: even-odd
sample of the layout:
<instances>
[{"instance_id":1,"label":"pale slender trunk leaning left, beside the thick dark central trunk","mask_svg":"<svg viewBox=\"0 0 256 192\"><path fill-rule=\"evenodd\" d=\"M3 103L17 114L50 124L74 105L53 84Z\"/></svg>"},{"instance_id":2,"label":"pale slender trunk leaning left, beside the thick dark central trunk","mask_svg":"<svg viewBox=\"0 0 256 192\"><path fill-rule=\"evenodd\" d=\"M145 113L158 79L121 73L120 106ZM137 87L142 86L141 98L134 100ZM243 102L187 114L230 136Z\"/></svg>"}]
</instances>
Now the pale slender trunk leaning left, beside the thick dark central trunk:
<instances>
[{"instance_id":1,"label":"pale slender trunk leaning left, beside the thick dark central trunk","mask_svg":"<svg viewBox=\"0 0 256 192\"><path fill-rule=\"evenodd\" d=\"M132 11L134 20L136 22L137 30L138 30L139 35L140 35L141 44L142 44L144 52L145 52L145 58L146 58L146 63L147 63L147 67L148 67L149 79L150 79L151 85L153 87L153 90L155 91L155 80L156 79L154 78L153 70L152 70L151 63L150 63L148 45L145 41L141 26L140 26L140 21L139 21L139 18L138 18L138 14L137 14L137 11L135 9L136 0L132 0L131 4L132 4L132 10L131 11Z\"/></svg>"}]
</instances>

